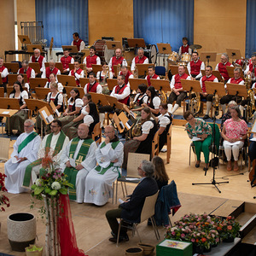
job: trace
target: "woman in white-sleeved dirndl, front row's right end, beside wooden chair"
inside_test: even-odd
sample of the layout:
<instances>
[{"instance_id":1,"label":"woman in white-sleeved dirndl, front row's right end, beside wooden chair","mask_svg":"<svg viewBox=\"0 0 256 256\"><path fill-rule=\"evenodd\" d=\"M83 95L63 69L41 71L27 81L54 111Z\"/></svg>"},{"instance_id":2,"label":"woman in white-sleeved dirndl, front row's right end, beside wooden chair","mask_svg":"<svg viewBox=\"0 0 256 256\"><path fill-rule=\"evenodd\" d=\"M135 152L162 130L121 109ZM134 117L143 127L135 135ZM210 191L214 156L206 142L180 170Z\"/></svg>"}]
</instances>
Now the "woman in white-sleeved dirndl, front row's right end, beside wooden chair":
<instances>
[{"instance_id":1,"label":"woman in white-sleeved dirndl, front row's right end, beside wooden chair","mask_svg":"<svg viewBox=\"0 0 256 256\"><path fill-rule=\"evenodd\" d=\"M160 115L157 117L159 125L159 151L165 146L167 141L167 133L170 125L172 125L172 114L168 112L168 106L166 103L160 104Z\"/></svg>"}]
</instances>

